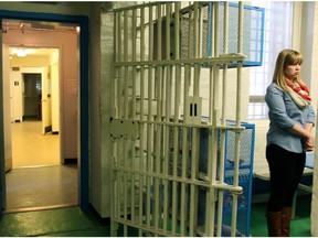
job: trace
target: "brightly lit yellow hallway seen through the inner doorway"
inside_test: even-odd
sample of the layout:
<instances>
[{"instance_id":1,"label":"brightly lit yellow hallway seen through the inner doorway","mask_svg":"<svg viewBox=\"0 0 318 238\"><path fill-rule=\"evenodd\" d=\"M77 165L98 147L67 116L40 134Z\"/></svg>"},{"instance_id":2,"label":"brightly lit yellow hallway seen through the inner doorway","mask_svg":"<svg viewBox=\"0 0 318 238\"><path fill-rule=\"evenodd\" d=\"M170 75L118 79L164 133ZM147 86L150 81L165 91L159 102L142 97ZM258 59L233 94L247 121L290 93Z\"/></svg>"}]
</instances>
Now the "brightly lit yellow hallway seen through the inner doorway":
<instances>
[{"instance_id":1,"label":"brightly lit yellow hallway seen through the inner doorway","mask_svg":"<svg viewBox=\"0 0 318 238\"><path fill-rule=\"evenodd\" d=\"M20 64L29 61L19 60ZM11 64L17 64L12 55ZM10 74L12 167L60 165L59 67L50 67L49 77L43 67L11 68L14 69Z\"/></svg>"}]
</instances>

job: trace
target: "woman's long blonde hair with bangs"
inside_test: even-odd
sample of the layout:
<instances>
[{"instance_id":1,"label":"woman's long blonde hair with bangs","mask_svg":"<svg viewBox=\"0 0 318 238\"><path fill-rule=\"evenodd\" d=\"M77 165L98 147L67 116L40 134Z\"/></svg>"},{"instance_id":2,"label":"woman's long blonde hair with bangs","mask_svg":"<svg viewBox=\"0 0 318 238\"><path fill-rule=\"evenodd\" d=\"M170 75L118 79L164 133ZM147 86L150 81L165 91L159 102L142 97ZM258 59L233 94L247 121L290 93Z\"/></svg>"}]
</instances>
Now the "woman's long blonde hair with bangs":
<instances>
[{"instance_id":1,"label":"woman's long blonde hair with bangs","mask_svg":"<svg viewBox=\"0 0 318 238\"><path fill-rule=\"evenodd\" d=\"M278 85L285 91L288 91L289 88L285 82L284 73L288 65L295 65L295 64L301 65L301 63L303 63L303 55L299 52L289 50L289 48L283 50L278 54L277 60L276 60L273 83ZM304 82L301 80L299 76L297 77L297 82L300 82L304 84Z\"/></svg>"}]
</instances>

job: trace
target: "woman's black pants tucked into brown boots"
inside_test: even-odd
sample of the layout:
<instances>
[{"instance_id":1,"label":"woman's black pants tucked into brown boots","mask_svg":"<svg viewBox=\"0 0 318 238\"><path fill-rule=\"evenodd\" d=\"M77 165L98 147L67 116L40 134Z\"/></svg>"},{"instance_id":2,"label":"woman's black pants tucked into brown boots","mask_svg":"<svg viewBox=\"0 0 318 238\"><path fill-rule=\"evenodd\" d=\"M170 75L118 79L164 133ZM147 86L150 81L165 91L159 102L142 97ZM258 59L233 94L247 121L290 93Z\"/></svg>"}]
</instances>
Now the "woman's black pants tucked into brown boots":
<instances>
[{"instance_id":1,"label":"woman's black pants tucked into brown boots","mask_svg":"<svg viewBox=\"0 0 318 238\"><path fill-rule=\"evenodd\" d=\"M289 152L276 144L266 148L266 160L271 173L268 212L292 207L294 194L303 176L306 153Z\"/></svg>"}]
</instances>

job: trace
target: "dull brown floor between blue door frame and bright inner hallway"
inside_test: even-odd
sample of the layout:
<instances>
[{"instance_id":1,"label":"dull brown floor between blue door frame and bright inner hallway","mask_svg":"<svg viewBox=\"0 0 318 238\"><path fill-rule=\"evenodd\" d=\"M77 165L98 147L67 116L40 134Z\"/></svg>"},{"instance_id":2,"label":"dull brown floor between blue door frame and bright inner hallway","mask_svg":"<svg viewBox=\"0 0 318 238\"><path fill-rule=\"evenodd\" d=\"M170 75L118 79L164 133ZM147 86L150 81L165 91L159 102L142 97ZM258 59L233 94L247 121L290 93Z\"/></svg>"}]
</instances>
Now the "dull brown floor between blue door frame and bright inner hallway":
<instances>
[{"instance_id":1,"label":"dull brown floor between blue door frame and bright inner hallway","mask_svg":"<svg viewBox=\"0 0 318 238\"><path fill-rule=\"evenodd\" d=\"M75 206L77 165L13 169L6 175L4 213Z\"/></svg>"}]
</instances>

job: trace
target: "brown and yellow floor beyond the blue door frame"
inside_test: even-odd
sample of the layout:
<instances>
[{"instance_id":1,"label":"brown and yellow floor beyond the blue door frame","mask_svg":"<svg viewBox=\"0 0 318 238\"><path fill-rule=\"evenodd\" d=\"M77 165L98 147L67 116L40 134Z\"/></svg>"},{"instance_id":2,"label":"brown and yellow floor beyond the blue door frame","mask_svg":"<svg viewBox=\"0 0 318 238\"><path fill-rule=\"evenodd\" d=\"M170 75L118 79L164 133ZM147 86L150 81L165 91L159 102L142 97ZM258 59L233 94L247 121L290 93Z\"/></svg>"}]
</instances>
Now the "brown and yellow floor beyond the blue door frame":
<instances>
[{"instance_id":1,"label":"brown and yellow floor beyond the blue door frame","mask_svg":"<svg viewBox=\"0 0 318 238\"><path fill-rule=\"evenodd\" d=\"M42 122L11 123L13 169L6 174L4 213L76 206L77 164L60 164L59 134L41 132Z\"/></svg>"}]
</instances>

